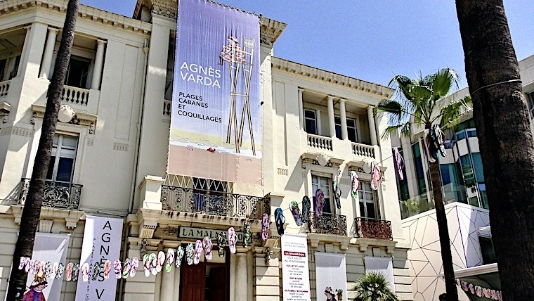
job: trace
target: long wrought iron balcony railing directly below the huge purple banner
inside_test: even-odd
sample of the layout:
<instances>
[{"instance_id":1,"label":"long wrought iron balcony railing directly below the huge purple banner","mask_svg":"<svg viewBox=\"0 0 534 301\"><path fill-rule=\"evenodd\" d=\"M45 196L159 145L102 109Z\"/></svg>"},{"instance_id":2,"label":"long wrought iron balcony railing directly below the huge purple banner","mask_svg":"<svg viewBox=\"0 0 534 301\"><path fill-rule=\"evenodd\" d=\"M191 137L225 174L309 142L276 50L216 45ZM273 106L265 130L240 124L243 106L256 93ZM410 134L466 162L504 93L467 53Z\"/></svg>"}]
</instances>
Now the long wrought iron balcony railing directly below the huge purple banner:
<instances>
[{"instance_id":1,"label":"long wrought iron balcony railing directly below the huge purple banner","mask_svg":"<svg viewBox=\"0 0 534 301\"><path fill-rule=\"evenodd\" d=\"M261 219L270 214L268 198L162 185L163 210L204 213L221 217Z\"/></svg>"}]
</instances>

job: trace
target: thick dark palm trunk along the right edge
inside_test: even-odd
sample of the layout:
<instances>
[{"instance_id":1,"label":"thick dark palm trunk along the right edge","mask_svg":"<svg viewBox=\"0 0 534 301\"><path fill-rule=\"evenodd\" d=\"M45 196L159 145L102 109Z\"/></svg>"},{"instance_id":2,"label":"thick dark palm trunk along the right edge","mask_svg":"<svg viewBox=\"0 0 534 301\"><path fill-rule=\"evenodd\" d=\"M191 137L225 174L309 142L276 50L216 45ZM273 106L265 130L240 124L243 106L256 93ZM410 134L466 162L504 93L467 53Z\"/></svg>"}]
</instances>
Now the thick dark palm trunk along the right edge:
<instances>
[{"instance_id":1,"label":"thick dark palm trunk along the right edge","mask_svg":"<svg viewBox=\"0 0 534 301\"><path fill-rule=\"evenodd\" d=\"M503 299L534 300L534 143L504 6L457 0L456 9Z\"/></svg>"}]
</instances>

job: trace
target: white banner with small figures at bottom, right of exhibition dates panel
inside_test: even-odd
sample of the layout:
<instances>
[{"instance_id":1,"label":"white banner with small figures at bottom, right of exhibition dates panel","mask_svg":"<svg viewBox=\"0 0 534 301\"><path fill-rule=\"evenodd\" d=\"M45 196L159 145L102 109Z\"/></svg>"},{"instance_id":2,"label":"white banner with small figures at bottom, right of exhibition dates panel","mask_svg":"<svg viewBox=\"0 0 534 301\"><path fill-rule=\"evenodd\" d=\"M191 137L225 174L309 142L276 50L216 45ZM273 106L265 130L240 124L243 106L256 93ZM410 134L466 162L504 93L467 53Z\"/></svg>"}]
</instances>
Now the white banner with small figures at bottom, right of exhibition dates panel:
<instances>
[{"instance_id":1,"label":"white banner with small figures at bottom, right of exhibition dates panel","mask_svg":"<svg viewBox=\"0 0 534 301\"><path fill-rule=\"evenodd\" d=\"M347 300L344 254L315 252L315 287L317 300Z\"/></svg>"}]
</instances>

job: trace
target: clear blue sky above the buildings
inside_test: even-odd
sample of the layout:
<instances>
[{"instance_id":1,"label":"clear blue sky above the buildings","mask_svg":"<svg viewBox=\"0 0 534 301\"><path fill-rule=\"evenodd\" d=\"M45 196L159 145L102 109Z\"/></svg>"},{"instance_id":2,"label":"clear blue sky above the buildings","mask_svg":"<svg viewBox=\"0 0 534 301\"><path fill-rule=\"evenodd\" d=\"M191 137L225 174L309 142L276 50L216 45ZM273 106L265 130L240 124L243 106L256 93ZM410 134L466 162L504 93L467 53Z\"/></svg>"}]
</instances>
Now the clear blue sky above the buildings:
<instances>
[{"instance_id":1,"label":"clear blue sky above the buildings","mask_svg":"<svg viewBox=\"0 0 534 301\"><path fill-rule=\"evenodd\" d=\"M454 0L219 0L286 23L275 56L368 82L455 69L467 86ZM81 0L131 16L135 0ZM534 1L504 0L519 60L534 54Z\"/></svg>"}]
</instances>

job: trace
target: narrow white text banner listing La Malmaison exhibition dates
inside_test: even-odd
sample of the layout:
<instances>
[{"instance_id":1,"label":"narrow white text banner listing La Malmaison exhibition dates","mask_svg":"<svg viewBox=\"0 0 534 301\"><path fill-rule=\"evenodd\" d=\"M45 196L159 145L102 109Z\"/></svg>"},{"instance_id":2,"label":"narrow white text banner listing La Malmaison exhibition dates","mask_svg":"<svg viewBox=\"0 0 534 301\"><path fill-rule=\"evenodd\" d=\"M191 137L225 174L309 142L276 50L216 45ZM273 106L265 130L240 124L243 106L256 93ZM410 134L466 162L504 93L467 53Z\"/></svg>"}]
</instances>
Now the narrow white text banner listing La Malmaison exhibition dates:
<instances>
[{"instance_id":1,"label":"narrow white text banner listing La Malmaison exhibition dates","mask_svg":"<svg viewBox=\"0 0 534 301\"><path fill-rule=\"evenodd\" d=\"M307 236L284 234L281 241L283 300L311 300Z\"/></svg>"}]
</instances>

